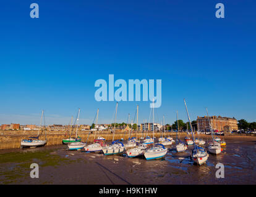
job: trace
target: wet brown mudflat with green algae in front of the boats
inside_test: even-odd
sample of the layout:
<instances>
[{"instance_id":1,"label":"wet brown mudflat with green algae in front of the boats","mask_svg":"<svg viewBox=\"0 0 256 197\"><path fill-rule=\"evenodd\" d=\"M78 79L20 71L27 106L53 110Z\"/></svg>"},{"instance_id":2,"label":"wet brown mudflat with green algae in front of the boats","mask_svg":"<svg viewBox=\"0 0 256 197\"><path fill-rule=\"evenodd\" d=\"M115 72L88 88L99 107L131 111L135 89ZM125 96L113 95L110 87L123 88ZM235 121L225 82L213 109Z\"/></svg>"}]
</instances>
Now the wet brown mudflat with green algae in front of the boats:
<instances>
[{"instance_id":1,"label":"wet brown mudflat with green algae in front of the boats","mask_svg":"<svg viewBox=\"0 0 256 197\"><path fill-rule=\"evenodd\" d=\"M223 137L221 137L223 138ZM185 153L169 147L164 159L147 161L123 155L67 151L66 145L0 151L1 184L256 184L255 137L225 138L220 155L195 166ZM30 164L38 163L39 179L30 178ZM215 165L224 164L224 179L216 179Z\"/></svg>"}]
</instances>

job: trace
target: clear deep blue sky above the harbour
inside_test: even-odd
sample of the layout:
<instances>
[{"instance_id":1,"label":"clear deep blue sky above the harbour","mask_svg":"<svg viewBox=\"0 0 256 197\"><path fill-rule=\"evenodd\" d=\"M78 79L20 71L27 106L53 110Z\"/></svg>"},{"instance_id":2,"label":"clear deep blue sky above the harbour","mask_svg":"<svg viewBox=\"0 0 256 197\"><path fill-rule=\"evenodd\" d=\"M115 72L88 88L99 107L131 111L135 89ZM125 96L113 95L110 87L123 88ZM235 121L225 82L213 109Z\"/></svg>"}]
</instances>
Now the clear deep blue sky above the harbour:
<instances>
[{"instance_id":1,"label":"clear deep blue sky above the harbour","mask_svg":"<svg viewBox=\"0 0 256 197\"><path fill-rule=\"evenodd\" d=\"M30 4L40 18L30 18ZM225 18L215 17L222 2ZM205 115L255 121L255 1L4 1L0 9L0 124L113 122L97 79L161 79L158 119ZM148 102L120 102L118 122L148 119Z\"/></svg>"}]
</instances>

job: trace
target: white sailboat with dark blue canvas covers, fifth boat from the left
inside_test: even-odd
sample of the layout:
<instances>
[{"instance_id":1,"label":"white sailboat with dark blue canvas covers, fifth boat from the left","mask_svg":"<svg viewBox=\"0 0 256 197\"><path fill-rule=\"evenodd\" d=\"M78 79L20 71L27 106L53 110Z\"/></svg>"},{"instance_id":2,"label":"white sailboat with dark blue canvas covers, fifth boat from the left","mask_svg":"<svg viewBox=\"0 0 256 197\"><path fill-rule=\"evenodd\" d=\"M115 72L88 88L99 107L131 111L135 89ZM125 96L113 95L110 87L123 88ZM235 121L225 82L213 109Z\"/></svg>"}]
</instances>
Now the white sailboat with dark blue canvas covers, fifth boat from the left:
<instances>
[{"instance_id":1,"label":"white sailboat with dark blue canvas covers, fifth boat from the left","mask_svg":"<svg viewBox=\"0 0 256 197\"><path fill-rule=\"evenodd\" d=\"M116 102L116 114L117 114L117 107L118 107L118 102ZM114 119L114 132L115 132L115 129L116 129L116 116ZM113 132L112 144L102 148L104 155L115 155L115 154L123 153L125 150L124 144L122 142L120 142L119 140L114 141L114 132Z\"/></svg>"}]
</instances>

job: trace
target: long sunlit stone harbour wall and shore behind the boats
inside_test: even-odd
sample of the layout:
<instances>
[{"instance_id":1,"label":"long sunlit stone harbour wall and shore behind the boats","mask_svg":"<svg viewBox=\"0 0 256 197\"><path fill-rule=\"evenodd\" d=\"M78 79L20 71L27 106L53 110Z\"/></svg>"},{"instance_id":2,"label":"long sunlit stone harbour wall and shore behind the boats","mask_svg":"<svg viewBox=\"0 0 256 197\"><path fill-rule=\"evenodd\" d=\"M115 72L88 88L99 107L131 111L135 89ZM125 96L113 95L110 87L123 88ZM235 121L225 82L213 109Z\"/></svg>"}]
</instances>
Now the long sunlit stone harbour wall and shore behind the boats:
<instances>
[{"instance_id":1,"label":"long sunlit stone harbour wall and shore behind the boats","mask_svg":"<svg viewBox=\"0 0 256 197\"><path fill-rule=\"evenodd\" d=\"M47 143L45 146L52 146L52 145L61 145L62 144L62 139L67 139L69 138L69 135L67 135L67 132L65 131L59 131L59 132L47 132ZM150 137L153 137L153 133L148 132L148 133L141 133L138 132L133 132L130 137L136 137L138 138L143 137L143 135L149 135ZM27 131L13 131L13 132L6 132L6 131L0 131L0 150L6 150L6 149L15 149L15 148L20 148L20 142L22 139L26 139L27 137L37 135L37 132L32 131L32 132L27 132ZM113 134L111 134L110 131L105 131L105 132L100 132L99 134L101 137L104 137L106 141L112 140L113 139ZM161 137L162 133L161 132L155 132L155 137ZM164 135L164 134L163 134ZM166 137L170 136L173 138L176 138L176 132L166 132ZM186 137L187 134L186 132L180 132L179 137L182 139ZM254 140L256 141L256 134L226 134L226 135L216 135L220 137L221 139L239 139L239 140ZM79 137L82 138L82 142L88 142L92 143L95 137L94 133L90 133L90 131L83 131L79 133ZM98 134L96 134L96 137L98 137ZM196 137L198 135L196 134ZM200 134L200 138L202 139L210 139L211 135L205 135L205 134ZM129 134L126 132L120 132L116 131L114 134L114 139L121 139L123 138L124 140L127 140L129 138ZM43 133L40 135L40 139L44 140L45 139L45 134Z\"/></svg>"}]
</instances>

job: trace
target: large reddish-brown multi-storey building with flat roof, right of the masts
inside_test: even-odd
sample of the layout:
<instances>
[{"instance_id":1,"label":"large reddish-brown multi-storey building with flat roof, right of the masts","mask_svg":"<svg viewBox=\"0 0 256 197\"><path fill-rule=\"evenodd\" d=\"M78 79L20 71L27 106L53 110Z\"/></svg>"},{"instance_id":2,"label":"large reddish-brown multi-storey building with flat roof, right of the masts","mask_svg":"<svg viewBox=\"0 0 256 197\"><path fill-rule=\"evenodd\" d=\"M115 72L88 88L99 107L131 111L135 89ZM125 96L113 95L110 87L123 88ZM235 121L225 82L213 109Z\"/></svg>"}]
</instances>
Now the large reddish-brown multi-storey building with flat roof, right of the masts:
<instances>
[{"instance_id":1,"label":"large reddish-brown multi-storey building with flat roof, right of the masts","mask_svg":"<svg viewBox=\"0 0 256 197\"><path fill-rule=\"evenodd\" d=\"M221 116L210 116L210 123L214 130L216 131L237 131L237 119L221 117ZM210 125L208 116L199 117L197 116L197 128L198 131L209 131Z\"/></svg>"}]
</instances>

